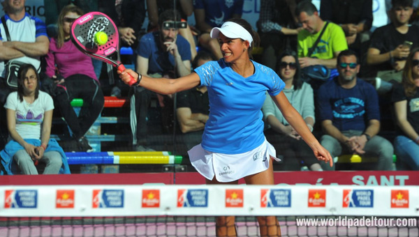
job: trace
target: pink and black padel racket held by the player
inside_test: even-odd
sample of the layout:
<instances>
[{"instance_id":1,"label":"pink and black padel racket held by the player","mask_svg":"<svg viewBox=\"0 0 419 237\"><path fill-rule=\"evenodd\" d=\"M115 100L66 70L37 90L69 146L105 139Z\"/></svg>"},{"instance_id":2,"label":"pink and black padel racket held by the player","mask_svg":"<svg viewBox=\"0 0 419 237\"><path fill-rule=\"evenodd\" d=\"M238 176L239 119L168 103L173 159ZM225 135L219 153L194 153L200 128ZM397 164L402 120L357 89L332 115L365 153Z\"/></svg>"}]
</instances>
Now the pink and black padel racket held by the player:
<instances>
[{"instance_id":1,"label":"pink and black padel racket held by the player","mask_svg":"<svg viewBox=\"0 0 419 237\"><path fill-rule=\"evenodd\" d=\"M96 33L105 33L108 40L99 45L95 42ZM125 70L125 66L115 60L119 58L119 34L117 26L107 15L99 12L91 12L78 17L71 25L71 40L84 54L94 59L104 61L117 68ZM130 86L136 82L131 77Z\"/></svg>"}]
</instances>

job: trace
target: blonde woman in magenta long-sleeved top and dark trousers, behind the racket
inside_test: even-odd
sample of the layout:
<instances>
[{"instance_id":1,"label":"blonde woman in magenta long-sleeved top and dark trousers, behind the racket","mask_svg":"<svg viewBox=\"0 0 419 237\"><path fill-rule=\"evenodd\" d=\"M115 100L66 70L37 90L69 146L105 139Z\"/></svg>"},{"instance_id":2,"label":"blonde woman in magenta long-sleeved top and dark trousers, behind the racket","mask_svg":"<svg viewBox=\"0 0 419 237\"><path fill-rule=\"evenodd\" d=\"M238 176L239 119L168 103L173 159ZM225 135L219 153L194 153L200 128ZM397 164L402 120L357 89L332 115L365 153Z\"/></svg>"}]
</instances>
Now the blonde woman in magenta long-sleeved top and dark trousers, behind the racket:
<instances>
[{"instance_id":1,"label":"blonde woman in magenta long-sleeved top and dark trousers, behind the racket","mask_svg":"<svg viewBox=\"0 0 419 237\"><path fill-rule=\"evenodd\" d=\"M52 95L70 127L77 144L75 150L93 151L84 135L101 114L105 99L91 58L80 52L70 40L71 24L81 15L82 10L77 6L68 5L61 10L58 36L51 38L50 52L45 56L47 66L43 89ZM74 98L83 99L78 116L71 106Z\"/></svg>"}]
</instances>

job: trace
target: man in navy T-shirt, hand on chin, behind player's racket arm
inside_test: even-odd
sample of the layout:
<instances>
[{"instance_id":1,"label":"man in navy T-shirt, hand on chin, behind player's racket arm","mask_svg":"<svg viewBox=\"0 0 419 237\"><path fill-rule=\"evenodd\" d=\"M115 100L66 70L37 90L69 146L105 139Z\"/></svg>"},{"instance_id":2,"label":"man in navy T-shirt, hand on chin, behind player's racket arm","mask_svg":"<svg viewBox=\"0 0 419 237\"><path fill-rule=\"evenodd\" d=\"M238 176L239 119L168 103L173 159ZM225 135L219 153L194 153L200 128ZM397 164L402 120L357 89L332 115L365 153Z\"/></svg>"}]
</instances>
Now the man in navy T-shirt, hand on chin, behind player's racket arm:
<instances>
[{"instance_id":1,"label":"man in navy T-shirt, hand on chin, behind player's racket arm","mask_svg":"<svg viewBox=\"0 0 419 237\"><path fill-rule=\"evenodd\" d=\"M140 39L137 54L136 71L149 77L177 78L191 73L191 48L188 41L178 34L179 28L186 28L186 22L176 10L166 10L159 16L159 31L145 34ZM131 132L136 151L150 151L147 148L147 112L152 98L152 91L141 86L133 87L131 97ZM172 106L170 96L157 94L163 119L163 130L172 129Z\"/></svg>"}]
</instances>

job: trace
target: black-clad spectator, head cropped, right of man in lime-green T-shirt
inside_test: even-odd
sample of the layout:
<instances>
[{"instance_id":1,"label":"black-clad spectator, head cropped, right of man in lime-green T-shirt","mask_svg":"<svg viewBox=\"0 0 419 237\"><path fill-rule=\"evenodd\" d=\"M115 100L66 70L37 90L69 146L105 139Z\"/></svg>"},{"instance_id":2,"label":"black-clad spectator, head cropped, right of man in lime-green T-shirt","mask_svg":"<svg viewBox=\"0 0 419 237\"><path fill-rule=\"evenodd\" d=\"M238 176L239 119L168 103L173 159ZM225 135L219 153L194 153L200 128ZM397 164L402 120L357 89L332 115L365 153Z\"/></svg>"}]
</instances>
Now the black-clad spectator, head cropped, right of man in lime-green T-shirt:
<instances>
[{"instance_id":1,"label":"black-clad spectator, head cropped, right of man in lime-green T-shirt","mask_svg":"<svg viewBox=\"0 0 419 237\"><path fill-rule=\"evenodd\" d=\"M369 40L372 26L372 0L328 0L320 2L321 18L339 24L348 47L362 55L362 43Z\"/></svg>"}]
</instances>

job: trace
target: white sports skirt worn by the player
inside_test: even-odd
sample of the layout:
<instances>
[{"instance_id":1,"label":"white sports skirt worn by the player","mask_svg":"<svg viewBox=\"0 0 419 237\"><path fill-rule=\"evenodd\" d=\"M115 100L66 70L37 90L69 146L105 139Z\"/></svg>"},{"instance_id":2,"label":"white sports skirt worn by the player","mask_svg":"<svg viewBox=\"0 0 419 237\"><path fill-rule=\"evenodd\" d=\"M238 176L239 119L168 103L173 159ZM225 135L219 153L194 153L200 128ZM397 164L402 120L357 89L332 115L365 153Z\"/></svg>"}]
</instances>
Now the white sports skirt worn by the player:
<instances>
[{"instance_id":1,"label":"white sports skirt worn by the player","mask_svg":"<svg viewBox=\"0 0 419 237\"><path fill-rule=\"evenodd\" d=\"M224 154L206 151L201 144L188 151L189 159L195 169L208 180L214 176L219 182L237 181L240 178L257 174L269 168L270 158L277 158L277 151L267 140L251 151L239 154Z\"/></svg>"}]
</instances>

